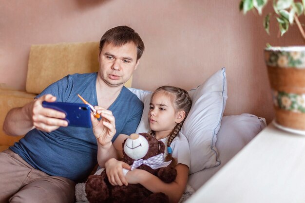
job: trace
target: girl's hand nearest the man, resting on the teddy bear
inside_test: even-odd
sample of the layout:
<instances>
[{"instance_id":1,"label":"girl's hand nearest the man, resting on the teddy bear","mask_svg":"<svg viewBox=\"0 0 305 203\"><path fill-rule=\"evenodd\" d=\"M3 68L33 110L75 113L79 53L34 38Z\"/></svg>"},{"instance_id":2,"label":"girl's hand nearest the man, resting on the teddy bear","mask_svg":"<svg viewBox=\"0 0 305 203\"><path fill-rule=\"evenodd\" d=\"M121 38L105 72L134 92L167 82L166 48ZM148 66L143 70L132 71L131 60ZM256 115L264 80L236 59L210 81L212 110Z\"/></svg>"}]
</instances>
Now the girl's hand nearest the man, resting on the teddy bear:
<instances>
[{"instance_id":1,"label":"girl's hand nearest the man, resting on the teddy bear","mask_svg":"<svg viewBox=\"0 0 305 203\"><path fill-rule=\"evenodd\" d=\"M130 170L130 166L128 164L114 158L109 159L105 163L106 175L111 185L128 185L125 175L123 174L123 168Z\"/></svg>"}]
</instances>

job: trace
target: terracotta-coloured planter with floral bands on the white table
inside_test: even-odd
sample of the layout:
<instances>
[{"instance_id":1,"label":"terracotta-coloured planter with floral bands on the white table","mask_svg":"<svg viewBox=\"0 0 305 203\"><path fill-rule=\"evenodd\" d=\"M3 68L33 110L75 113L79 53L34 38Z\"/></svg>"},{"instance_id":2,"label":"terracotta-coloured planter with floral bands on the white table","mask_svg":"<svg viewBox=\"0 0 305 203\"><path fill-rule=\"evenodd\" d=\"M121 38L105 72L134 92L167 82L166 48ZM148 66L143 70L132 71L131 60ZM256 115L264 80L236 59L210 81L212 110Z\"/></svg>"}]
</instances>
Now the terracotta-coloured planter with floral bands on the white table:
<instances>
[{"instance_id":1,"label":"terracotta-coloured planter with floral bands on the white table","mask_svg":"<svg viewBox=\"0 0 305 203\"><path fill-rule=\"evenodd\" d=\"M305 47L265 49L276 124L305 132Z\"/></svg>"}]
</instances>

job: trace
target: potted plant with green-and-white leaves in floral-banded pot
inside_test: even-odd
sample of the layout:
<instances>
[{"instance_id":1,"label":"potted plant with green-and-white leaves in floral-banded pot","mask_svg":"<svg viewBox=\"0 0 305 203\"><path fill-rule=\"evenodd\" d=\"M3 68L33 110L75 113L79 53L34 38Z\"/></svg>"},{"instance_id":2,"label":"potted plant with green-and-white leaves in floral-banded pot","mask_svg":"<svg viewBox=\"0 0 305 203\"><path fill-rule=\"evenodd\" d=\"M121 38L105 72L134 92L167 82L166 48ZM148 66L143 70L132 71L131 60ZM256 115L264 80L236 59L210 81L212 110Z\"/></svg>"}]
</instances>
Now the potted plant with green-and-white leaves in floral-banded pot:
<instances>
[{"instance_id":1,"label":"potted plant with green-and-white leaves in floral-banded pot","mask_svg":"<svg viewBox=\"0 0 305 203\"><path fill-rule=\"evenodd\" d=\"M246 14L256 9L262 15L268 0L241 0L239 9ZM264 18L269 34L270 18L275 17L284 35L290 25L297 25L305 40L299 16L304 15L305 0L273 0L273 13ZM265 49L265 62L273 96L275 126L305 134L305 47L271 47Z\"/></svg>"}]
</instances>

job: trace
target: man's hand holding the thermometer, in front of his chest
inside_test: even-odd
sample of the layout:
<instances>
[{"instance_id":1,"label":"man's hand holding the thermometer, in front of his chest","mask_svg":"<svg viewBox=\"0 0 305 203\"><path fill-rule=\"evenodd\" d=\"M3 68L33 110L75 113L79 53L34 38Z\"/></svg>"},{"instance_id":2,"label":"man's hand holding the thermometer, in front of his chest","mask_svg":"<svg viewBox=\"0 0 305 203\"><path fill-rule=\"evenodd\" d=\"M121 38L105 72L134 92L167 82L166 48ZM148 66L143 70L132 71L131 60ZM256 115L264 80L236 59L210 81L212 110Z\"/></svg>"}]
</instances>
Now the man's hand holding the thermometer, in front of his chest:
<instances>
[{"instance_id":1,"label":"man's hand holding the thermometer, in front of his chest","mask_svg":"<svg viewBox=\"0 0 305 203\"><path fill-rule=\"evenodd\" d=\"M106 110L102 107L95 106L96 113L101 115L101 119L97 120L91 114L91 122L93 127L93 133L98 141L98 143L103 146L111 145L111 140L115 135L115 119L112 111Z\"/></svg>"}]
</instances>

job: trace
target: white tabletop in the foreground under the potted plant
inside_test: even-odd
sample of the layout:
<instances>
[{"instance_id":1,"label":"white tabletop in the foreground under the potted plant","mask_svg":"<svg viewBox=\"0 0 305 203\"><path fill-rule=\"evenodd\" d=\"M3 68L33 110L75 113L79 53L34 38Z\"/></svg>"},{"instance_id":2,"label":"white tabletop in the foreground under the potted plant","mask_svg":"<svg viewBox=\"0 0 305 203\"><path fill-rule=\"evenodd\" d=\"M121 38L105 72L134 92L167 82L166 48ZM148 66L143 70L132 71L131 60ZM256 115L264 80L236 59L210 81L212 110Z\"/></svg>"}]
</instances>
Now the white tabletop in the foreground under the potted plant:
<instances>
[{"instance_id":1,"label":"white tabletop in the foreground under the potted plant","mask_svg":"<svg viewBox=\"0 0 305 203\"><path fill-rule=\"evenodd\" d=\"M186 203L305 203L305 135L268 125Z\"/></svg>"}]
</instances>

